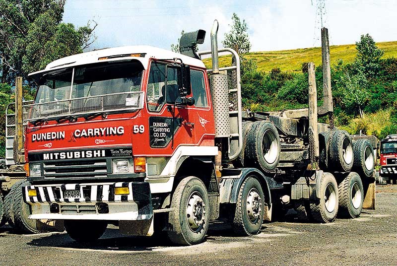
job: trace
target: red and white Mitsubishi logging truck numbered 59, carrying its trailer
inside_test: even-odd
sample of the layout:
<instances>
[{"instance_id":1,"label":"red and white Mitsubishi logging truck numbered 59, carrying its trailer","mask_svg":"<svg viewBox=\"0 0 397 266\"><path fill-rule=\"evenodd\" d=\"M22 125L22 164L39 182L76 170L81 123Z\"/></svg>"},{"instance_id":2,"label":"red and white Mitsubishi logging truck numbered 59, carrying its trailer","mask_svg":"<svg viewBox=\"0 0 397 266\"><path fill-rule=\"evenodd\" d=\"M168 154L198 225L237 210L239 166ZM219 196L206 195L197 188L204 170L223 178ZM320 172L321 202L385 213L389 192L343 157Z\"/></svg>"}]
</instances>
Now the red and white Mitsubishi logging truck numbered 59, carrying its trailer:
<instances>
[{"instance_id":1,"label":"red and white Mitsubishi logging truck numbered 59, carrying its trailer","mask_svg":"<svg viewBox=\"0 0 397 266\"><path fill-rule=\"evenodd\" d=\"M218 50L217 30L215 21L211 51L199 54L203 30L181 37L181 54L103 49L30 74L39 84L24 106L30 219L62 221L81 242L113 224L123 234L192 245L211 220L250 236L290 208L327 223L358 217L363 202L374 207L372 144L317 122L333 109L327 83L317 109L314 65L309 108L243 111L239 56ZM218 67L220 52L232 56L230 67Z\"/></svg>"}]
</instances>

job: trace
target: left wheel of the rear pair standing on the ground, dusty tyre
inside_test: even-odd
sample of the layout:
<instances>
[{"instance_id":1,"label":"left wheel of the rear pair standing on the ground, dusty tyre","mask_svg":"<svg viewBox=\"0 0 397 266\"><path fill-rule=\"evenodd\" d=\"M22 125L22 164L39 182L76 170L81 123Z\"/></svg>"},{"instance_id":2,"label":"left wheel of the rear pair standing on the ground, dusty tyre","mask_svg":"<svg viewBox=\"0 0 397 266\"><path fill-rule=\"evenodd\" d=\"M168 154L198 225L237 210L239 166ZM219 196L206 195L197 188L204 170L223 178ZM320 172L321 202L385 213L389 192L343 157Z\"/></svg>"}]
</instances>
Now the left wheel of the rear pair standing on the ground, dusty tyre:
<instances>
[{"instance_id":1,"label":"left wheel of the rear pair standing on the ground, dusty tyre","mask_svg":"<svg viewBox=\"0 0 397 266\"><path fill-rule=\"evenodd\" d=\"M310 202L310 216L314 221L329 223L338 212L338 186L331 173L323 173L320 180L320 200Z\"/></svg>"}]
</instances>

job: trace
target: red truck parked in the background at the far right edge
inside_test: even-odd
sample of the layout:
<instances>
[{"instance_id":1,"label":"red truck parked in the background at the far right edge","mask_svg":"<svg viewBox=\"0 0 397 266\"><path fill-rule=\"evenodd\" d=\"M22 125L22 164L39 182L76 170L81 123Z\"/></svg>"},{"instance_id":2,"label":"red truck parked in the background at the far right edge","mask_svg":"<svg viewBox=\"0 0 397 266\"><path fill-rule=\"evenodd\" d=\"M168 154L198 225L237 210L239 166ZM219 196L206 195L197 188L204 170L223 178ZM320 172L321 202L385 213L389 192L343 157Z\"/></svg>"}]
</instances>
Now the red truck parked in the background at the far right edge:
<instances>
[{"instance_id":1,"label":"red truck parked in the background at the far right edge","mask_svg":"<svg viewBox=\"0 0 397 266\"><path fill-rule=\"evenodd\" d=\"M381 140L380 176L387 184L397 184L397 134Z\"/></svg>"}]
</instances>

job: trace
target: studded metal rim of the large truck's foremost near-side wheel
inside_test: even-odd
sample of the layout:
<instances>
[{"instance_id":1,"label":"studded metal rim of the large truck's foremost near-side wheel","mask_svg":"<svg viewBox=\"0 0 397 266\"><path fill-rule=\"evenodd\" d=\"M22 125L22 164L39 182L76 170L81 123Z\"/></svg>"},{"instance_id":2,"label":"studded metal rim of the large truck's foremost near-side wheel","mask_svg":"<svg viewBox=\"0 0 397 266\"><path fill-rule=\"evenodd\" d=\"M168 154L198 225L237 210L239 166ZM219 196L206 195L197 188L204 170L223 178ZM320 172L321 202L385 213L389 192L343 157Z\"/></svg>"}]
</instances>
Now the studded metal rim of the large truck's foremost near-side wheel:
<instances>
[{"instance_id":1,"label":"studded metal rim of the large truck's foremost near-side wheel","mask_svg":"<svg viewBox=\"0 0 397 266\"><path fill-rule=\"evenodd\" d=\"M190 195L188 204L186 205L186 217L189 228L193 232L199 232L205 223L206 211L204 200L199 192Z\"/></svg>"}]
</instances>

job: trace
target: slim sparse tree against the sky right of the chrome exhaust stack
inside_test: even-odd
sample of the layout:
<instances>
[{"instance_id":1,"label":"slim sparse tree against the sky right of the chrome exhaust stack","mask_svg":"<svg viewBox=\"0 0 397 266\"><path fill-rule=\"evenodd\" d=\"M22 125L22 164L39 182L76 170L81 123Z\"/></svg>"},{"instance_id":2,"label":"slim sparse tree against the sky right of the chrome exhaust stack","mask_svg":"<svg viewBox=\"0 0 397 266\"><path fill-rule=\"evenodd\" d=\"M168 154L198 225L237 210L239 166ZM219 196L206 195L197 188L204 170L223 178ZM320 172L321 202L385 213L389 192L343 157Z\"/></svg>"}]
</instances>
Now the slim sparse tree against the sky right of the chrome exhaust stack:
<instances>
[{"instance_id":1,"label":"slim sparse tree against the sky right of the chrome exhaust stack","mask_svg":"<svg viewBox=\"0 0 397 266\"><path fill-rule=\"evenodd\" d=\"M248 26L245 20L240 20L236 13L232 15L232 25L229 24L230 31L225 33L225 39L222 41L224 47L234 48L236 45L239 56L250 52L251 42L248 36Z\"/></svg>"}]
</instances>

